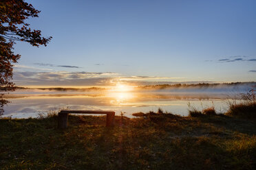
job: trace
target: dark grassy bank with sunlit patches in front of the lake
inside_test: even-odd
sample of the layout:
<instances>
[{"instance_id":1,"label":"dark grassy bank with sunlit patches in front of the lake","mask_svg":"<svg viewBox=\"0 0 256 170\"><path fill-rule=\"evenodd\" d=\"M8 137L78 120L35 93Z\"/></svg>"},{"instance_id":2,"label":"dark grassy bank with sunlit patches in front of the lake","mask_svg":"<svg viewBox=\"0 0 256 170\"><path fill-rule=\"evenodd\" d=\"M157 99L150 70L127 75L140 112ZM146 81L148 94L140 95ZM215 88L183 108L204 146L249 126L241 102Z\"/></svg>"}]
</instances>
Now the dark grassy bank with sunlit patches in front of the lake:
<instances>
[{"instance_id":1,"label":"dark grassy bank with sunlit patches in front of the lake","mask_svg":"<svg viewBox=\"0 0 256 170\"><path fill-rule=\"evenodd\" d=\"M0 119L0 169L255 169L256 123L224 115Z\"/></svg>"}]
</instances>

